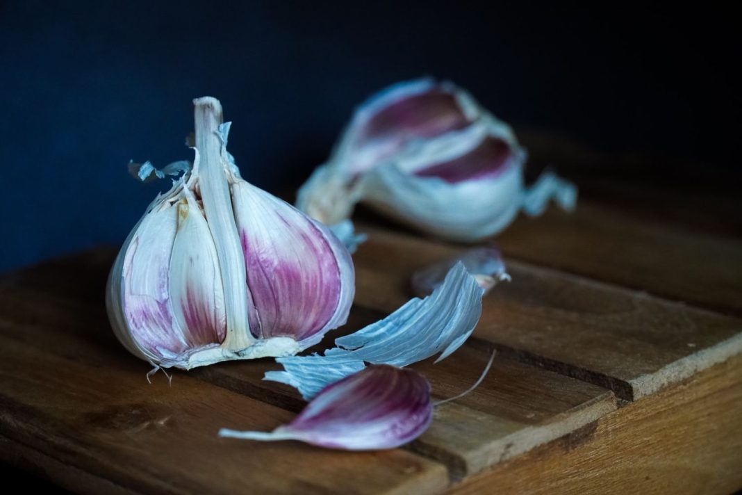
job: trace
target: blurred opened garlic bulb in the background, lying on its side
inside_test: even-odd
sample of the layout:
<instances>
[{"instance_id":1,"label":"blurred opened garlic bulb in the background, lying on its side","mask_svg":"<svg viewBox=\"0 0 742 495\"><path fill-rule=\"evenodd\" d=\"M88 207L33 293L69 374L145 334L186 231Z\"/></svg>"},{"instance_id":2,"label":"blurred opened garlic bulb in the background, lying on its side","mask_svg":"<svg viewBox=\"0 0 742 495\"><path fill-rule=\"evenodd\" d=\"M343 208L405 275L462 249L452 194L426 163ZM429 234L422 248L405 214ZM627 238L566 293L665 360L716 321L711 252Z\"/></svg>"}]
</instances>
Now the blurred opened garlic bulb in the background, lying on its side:
<instances>
[{"instance_id":1,"label":"blurred opened garlic bulb in the background, lying on its side","mask_svg":"<svg viewBox=\"0 0 742 495\"><path fill-rule=\"evenodd\" d=\"M423 232L479 240L551 199L574 209L577 189L552 172L525 187L525 158L510 127L453 83L401 82L355 111L296 204L330 226L360 202Z\"/></svg>"}]
</instances>

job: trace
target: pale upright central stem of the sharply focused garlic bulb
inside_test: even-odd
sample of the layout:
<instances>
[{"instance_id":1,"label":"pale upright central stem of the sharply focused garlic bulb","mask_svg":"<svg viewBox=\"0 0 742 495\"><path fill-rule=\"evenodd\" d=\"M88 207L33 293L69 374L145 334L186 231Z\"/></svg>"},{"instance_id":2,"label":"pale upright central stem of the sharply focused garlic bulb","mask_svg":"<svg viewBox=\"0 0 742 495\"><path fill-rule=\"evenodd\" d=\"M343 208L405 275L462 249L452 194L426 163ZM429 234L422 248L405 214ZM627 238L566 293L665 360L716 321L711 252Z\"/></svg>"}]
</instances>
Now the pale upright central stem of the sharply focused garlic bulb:
<instances>
[{"instance_id":1,"label":"pale upright central stem of the sharply focused garlic bulb","mask_svg":"<svg viewBox=\"0 0 742 495\"><path fill-rule=\"evenodd\" d=\"M226 337L221 347L243 350L255 338L249 331L248 305L252 301L246 283L245 259L234 223L232 197L218 136L222 123L222 105L211 96L194 99L198 177L203 209L217 249L224 285L227 319Z\"/></svg>"}]
</instances>

